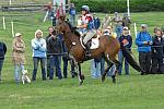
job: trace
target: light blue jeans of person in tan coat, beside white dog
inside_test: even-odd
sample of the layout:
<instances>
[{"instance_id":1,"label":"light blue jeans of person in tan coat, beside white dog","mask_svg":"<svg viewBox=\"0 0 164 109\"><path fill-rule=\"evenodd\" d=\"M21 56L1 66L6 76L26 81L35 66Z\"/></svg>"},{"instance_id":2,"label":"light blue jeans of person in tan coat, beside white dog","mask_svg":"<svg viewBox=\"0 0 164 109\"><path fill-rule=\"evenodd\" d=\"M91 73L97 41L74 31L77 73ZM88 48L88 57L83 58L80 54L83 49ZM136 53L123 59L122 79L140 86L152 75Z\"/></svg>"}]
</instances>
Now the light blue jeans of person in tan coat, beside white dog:
<instances>
[{"instance_id":1,"label":"light blue jeans of person in tan coat, beside white dog","mask_svg":"<svg viewBox=\"0 0 164 109\"><path fill-rule=\"evenodd\" d=\"M20 83L20 69L21 69L21 73L24 70L24 64L15 64L15 82Z\"/></svg>"}]
</instances>

